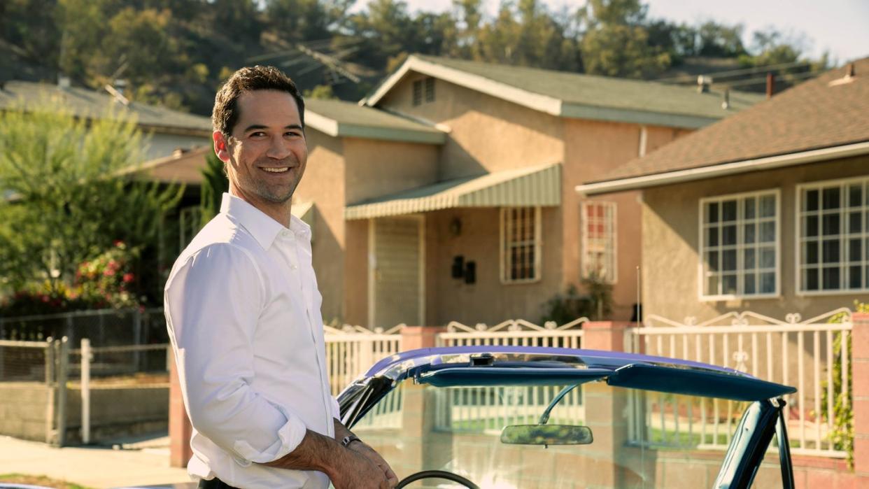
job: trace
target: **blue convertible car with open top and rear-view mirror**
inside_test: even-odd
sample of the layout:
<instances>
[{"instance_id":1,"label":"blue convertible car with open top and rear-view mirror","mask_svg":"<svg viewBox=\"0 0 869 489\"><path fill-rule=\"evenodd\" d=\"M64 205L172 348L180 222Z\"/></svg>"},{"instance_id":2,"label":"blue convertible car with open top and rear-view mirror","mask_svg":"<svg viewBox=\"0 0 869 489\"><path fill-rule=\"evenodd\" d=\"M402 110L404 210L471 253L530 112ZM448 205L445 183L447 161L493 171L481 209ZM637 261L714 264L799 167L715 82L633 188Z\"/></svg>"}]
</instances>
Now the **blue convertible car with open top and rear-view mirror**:
<instances>
[{"instance_id":1,"label":"blue convertible car with open top and rear-view mirror","mask_svg":"<svg viewBox=\"0 0 869 489\"><path fill-rule=\"evenodd\" d=\"M793 392L692 361L476 346L393 355L338 400L400 487L735 489L793 487Z\"/></svg>"}]
</instances>

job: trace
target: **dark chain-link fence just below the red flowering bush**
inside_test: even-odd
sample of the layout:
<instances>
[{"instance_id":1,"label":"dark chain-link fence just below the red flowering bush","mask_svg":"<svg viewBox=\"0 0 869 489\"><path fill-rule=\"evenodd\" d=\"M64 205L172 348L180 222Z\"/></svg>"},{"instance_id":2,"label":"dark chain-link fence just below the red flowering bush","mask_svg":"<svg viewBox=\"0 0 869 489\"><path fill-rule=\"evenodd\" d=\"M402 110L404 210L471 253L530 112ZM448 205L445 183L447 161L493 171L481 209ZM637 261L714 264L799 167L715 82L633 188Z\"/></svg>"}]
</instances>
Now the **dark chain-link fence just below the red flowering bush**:
<instances>
[{"instance_id":1,"label":"dark chain-link fence just below the red flowering bush","mask_svg":"<svg viewBox=\"0 0 869 489\"><path fill-rule=\"evenodd\" d=\"M42 341L63 336L76 346L83 338L88 338L95 347L169 342L163 308L0 317L0 340Z\"/></svg>"}]
</instances>

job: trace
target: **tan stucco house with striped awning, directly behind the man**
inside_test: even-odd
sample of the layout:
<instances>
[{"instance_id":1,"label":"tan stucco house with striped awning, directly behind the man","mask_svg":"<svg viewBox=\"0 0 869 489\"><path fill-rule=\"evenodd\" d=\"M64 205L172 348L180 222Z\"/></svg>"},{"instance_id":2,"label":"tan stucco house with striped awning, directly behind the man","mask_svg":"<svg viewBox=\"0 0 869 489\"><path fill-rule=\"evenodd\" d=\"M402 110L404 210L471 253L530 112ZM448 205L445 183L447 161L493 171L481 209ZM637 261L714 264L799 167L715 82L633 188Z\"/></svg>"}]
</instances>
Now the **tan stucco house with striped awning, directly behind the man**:
<instances>
[{"instance_id":1,"label":"tan stucco house with striped awning, directly behind the man","mask_svg":"<svg viewBox=\"0 0 869 489\"><path fill-rule=\"evenodd\" d=\"M358 107L310 101L296 196L315 202L323 316L536 321L555 294L598 274L627 320L639 193L588 200L574 187L759 100L409 56Z\"/></svg>"}]
</instances>

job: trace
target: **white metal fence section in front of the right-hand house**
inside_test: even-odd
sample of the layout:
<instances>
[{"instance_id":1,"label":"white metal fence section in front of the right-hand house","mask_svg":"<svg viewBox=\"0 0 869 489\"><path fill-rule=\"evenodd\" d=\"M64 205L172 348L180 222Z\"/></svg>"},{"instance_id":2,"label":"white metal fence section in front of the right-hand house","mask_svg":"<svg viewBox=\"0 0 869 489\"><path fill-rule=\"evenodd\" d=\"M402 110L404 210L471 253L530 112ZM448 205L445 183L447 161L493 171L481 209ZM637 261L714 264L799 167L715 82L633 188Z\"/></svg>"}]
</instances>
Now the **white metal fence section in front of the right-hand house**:
<instances>
[{"instance_id":1,"label":"white metal fence section in front of the right-hand house","mask_svg":"<svg viewBox=\"0 0 869 489\"><path fill-rule=\"evenodd\" d=\"M840 322L828 322L834 316ZM787 314L776 320L752 312L729 313L696 323L679 323L649 315L642 327L629 328L625 344L630 351L696 360L732 367L797 387L785 397L788 435L793 453L844 458L830 440L835 400L847 399L850 373L848 343L851 312L840 308L801 320ZM834 352L839 341L841 348ZM834 363L841 365L839 387L833 381ZM634 422L630 437L646 446L699 446L726 448L742 411L733 401L699 400L685 396L633 396ZM647 426L643 431L637 426Z\"/></svg>"}]
</instances>

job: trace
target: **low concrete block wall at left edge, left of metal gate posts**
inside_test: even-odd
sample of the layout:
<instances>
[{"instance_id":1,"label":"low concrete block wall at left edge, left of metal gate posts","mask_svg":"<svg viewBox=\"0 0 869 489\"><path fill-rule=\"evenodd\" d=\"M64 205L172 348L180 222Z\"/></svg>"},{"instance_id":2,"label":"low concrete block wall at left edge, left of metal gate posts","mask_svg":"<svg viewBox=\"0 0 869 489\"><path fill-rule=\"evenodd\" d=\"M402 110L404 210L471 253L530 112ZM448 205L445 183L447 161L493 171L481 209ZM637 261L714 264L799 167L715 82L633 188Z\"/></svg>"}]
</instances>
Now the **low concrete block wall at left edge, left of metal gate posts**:
<instances>
[{"instance_id":1,"label":"low concrete block wall at left edge, left of metal gate posts","mask_svg":"<svg viewBox=\"0 0 869 489\"><path fill-rule=\"evenodd\" d=\"M0 383L0 434L45 441L52 394L43 382Z\"/></svg>"}]
</instances>

